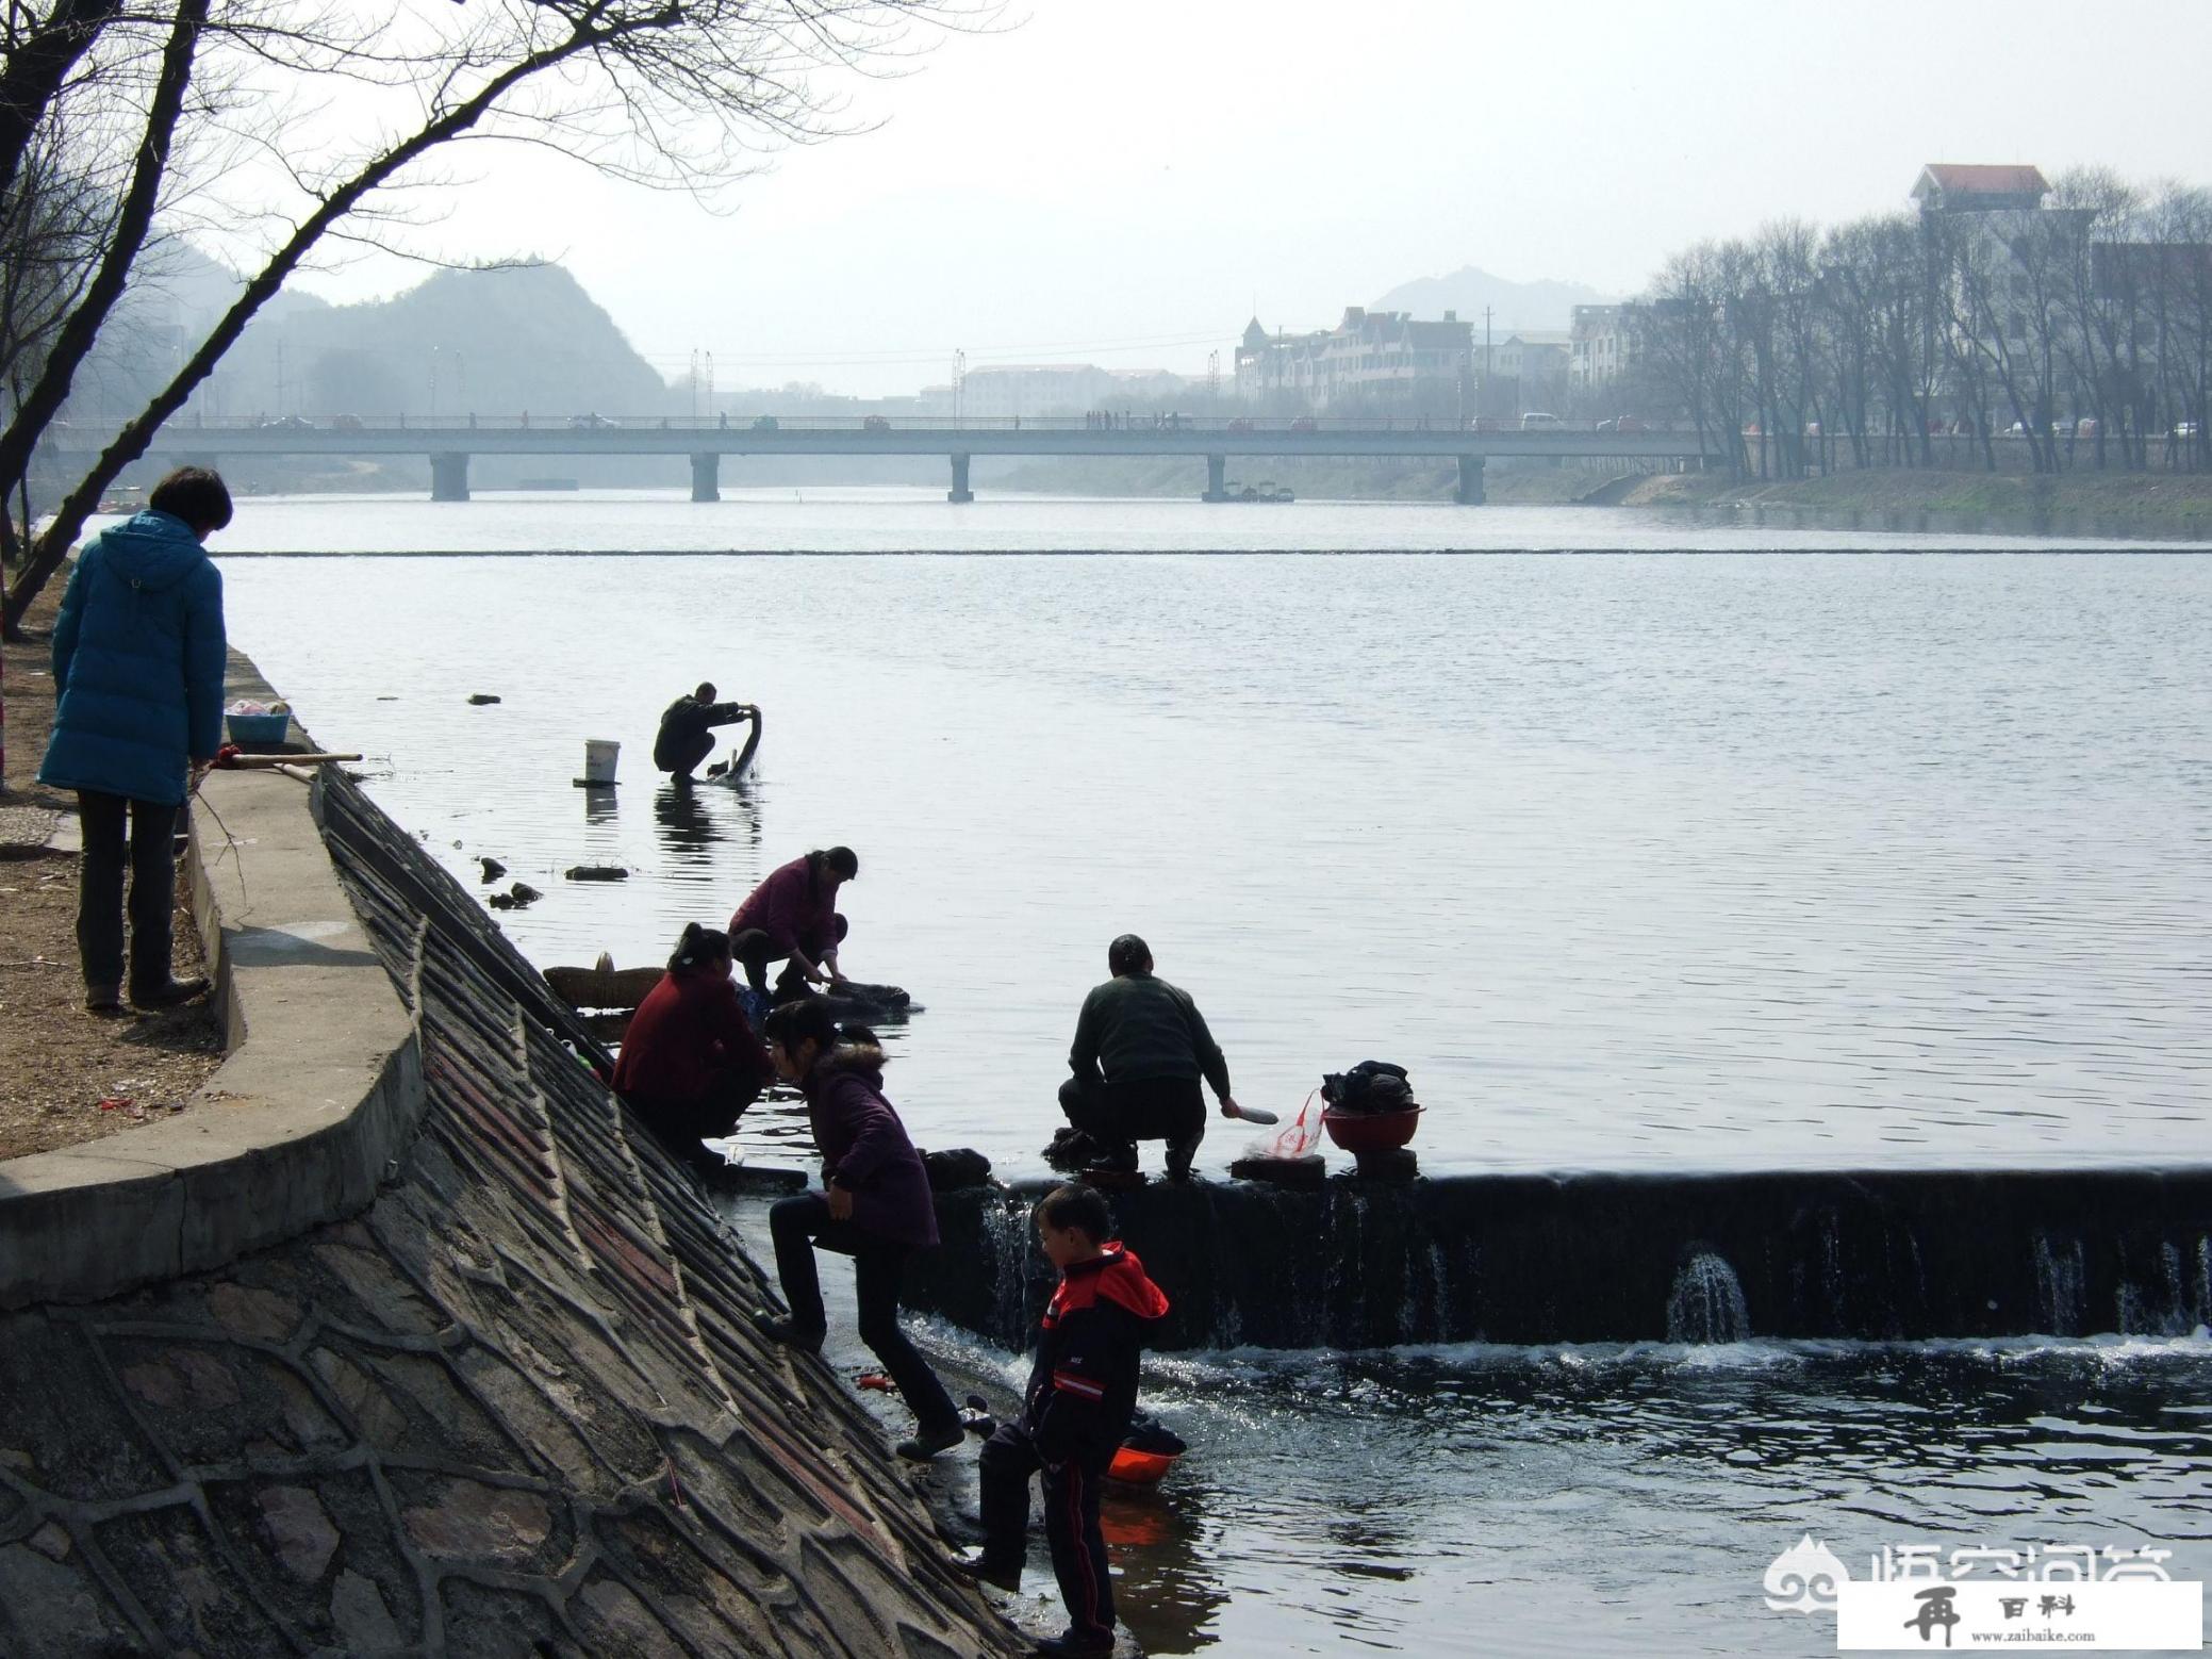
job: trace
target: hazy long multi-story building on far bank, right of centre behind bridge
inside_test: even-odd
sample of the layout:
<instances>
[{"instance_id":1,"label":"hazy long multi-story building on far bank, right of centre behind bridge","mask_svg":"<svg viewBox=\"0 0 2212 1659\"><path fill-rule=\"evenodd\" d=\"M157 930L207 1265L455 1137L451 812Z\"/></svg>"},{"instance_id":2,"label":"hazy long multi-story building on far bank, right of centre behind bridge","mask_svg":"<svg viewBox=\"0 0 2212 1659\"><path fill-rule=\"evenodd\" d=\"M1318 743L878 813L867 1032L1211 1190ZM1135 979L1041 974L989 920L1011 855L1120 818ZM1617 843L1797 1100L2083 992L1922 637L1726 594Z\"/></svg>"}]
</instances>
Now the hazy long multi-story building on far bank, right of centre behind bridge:
<instances>
[{"instance_id":1,"label":"hazy long multi-story building on far bank, right of centre behind bridge","mask_svg":"<svg viewBox=\"0 0 2212 1659\"><path fill-rule=\"evenodd\" d=\"M1254 316L1237 345L1237 396L1307 409L1458 407L1471 398L1473 347L1473 325L1458 312L1422 321L1349 305L1336 327L1305 334L1267 334Z\"/></svg>"}]
</instances>

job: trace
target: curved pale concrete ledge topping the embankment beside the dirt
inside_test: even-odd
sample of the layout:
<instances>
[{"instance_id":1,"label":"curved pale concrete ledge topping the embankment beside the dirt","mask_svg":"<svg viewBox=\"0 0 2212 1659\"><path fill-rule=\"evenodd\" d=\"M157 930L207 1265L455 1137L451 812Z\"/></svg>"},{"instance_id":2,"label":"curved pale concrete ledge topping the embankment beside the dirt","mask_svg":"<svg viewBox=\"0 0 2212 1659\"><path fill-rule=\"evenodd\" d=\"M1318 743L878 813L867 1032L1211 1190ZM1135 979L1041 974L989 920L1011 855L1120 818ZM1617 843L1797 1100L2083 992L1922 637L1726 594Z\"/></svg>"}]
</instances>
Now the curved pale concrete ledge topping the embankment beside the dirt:
<instances>
[{"instance_id":1,"label":"curved pale concrete ledge topping the embankment beside the dirt","mask_svg":"<svg viewBox=\"0 0 2212 1659\"><path fill-rule=\"evenodd\" d=\"M234 697L276 697L237 653ZM0 1307L100 1301L354 1214L414 1135L414 1026L307 787L212 772L186 869L230 1057L168 1121L0 1161Z\"/></svg>"}]
</instances>

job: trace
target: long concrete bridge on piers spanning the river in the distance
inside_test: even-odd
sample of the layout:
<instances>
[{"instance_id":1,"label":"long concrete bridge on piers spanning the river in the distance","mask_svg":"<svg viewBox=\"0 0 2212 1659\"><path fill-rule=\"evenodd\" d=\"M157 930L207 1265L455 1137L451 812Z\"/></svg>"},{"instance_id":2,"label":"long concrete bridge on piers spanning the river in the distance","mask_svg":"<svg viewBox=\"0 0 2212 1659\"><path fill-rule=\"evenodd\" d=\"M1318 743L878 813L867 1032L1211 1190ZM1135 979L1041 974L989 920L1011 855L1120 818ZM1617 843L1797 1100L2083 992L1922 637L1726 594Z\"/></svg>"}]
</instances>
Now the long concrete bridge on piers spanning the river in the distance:
<instances>
[{"instance_id":1,"label":"long concrete bridge on piers spanning the river in the distance","mask_svg":"<svg viewBox=\"0 0 2212 1659\"><path fill-rule=\"evenodd\" d=\"M1619 427L1626 425L1628 431ZM58 434L58 458L95 447ZM77 442L71 442L77 438ZM1206 460L1201 500L1228 500L1230 456L1431 456L1458 460L1460 502L1482 500L1491 456L1613 458L1703 465L1721 460L1694 431L1639 422L1555 425L1524 431L1500 420L1418 416L285 416L281 420L173 420L153 451L201 465L234 456L427 456L431 500L469 500L471 456L690 456L692 500L721 500L723 456L945 456L947 500L975 500L973 456L1192 456Z\"/></svg>"}]
</instances>

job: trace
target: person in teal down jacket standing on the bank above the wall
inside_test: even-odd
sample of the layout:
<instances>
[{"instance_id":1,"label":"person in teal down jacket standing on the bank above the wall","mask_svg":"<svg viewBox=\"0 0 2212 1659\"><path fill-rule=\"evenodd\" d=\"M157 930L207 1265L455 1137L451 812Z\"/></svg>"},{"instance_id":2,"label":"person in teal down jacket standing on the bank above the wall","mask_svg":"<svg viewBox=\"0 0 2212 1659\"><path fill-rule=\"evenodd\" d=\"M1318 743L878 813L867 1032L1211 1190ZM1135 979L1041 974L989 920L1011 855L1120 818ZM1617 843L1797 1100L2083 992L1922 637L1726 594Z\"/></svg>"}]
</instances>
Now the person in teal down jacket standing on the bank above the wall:
<instances>
[{"instance_id":1,"label":"person in teal down jacket standing on the bank above the wall","mask_svg":"<svg viewBox=\"0 0 2212 1659\"><path fill-rule=\"evenodd\" d=\"M38 781L77 792L77 956L93 1013L122 1011L126 816L131 1000L161 1009L208 989L170 978L173 836L192 768L223 741L223 577L199 542L228 522L221 478L173 471L144 513L84 546L53 624L53 737Z\"/></svg>"}]
</instances>

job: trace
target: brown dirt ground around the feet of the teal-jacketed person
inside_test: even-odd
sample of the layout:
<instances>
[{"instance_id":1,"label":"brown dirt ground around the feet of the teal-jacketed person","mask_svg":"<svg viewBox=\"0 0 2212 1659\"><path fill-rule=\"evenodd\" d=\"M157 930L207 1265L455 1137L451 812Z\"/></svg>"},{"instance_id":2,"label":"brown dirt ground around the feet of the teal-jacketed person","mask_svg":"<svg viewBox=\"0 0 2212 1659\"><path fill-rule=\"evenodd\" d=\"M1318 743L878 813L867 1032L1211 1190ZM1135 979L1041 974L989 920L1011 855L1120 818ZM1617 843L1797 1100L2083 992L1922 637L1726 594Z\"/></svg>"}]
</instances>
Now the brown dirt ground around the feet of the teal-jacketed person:
<instances>
[{"instance_id":1,"label":"brown dirt ground around the feet of the teal-jacketed person","mask_svg":"<svg viewBox=\"0 0 2212 1659\"><path fill-rule=\"evenodd\" d=\"M0 1159L117 1135L184 1110L223 1060L208 1000L102 1020L84 1011L77 971L77 856L27 849L40 807L75 814L75 796L40 790L53 721L49 639L60 580L31 606L29 644L0 644L7 792L0 794ZM179 878L179 900L184 883ZM199 933L177 909L177 975L201 973ZM117 1102L102 1108L102 1102Z\"/></svg>"}]
</instances>

